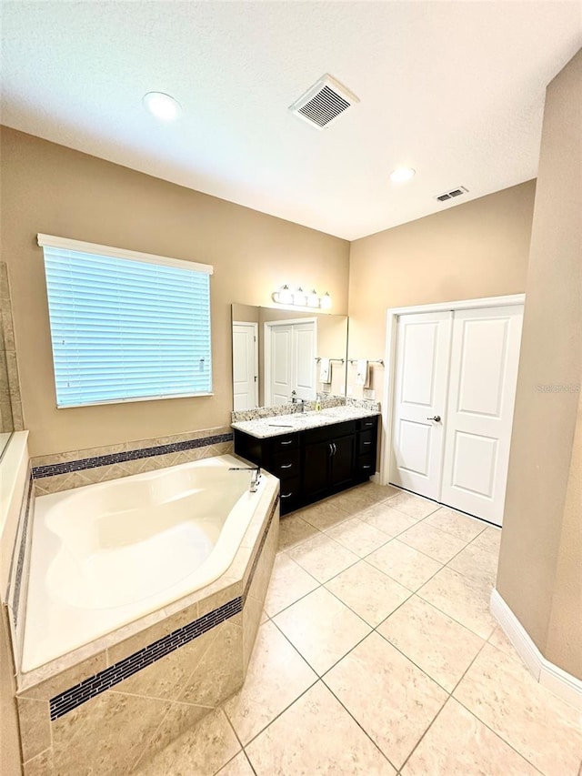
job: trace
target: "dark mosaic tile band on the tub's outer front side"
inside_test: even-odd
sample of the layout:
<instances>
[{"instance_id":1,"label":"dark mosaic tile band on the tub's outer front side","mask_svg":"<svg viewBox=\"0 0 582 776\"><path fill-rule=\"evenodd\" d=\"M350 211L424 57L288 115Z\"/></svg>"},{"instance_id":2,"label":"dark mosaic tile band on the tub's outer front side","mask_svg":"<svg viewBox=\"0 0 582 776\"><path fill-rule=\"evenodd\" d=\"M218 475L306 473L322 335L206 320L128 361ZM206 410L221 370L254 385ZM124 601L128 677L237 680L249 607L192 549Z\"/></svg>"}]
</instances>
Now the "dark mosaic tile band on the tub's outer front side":
<instances>
[{"instance_id":1,"label":"dark mosaic tile band on the tub's outer front side","mask_svg":"<svg viewBox=\"0 0 582 776\"><path fill-rule=\"evenodd\" d=\"M101 692L105 692L105 690L115 687L120 681L128 679L137 671L145 669L147 666L155 663L156 660L166 657L170 652L183 647L198 636L202 636L207 630L211 630L212 628L215 628L216 625L220 625L221 622L239 614L245 606L246 595L253 581L256 565L265 545L266 536L271 528L271 523L273 522L278 503L279 497L277 496L273 509L271 509L269 518L266 521L266 528L261 537L258 550L256 551L255 561L253 562L251 572L246 582L246 588L242 596L227 601L217 609L209 611L203 617L188 622L188 624L182 626L182 628L178 628L172 633L168 633L167 636L163 636L152 644L148 644L141 650L137 650L133 655L124 658L124 660L119 660L114 665L99 671L95 676L91 676L88 679L79 682L75 687L71 687L69 690L64 690L58 695L55 695L55 697L50 700L51 721L55 721L59 717L64 716L67 711L76 709L77 706L80 706L87 700L95 698L95 696L99 695Z\"/></svg>"}]
</instances>

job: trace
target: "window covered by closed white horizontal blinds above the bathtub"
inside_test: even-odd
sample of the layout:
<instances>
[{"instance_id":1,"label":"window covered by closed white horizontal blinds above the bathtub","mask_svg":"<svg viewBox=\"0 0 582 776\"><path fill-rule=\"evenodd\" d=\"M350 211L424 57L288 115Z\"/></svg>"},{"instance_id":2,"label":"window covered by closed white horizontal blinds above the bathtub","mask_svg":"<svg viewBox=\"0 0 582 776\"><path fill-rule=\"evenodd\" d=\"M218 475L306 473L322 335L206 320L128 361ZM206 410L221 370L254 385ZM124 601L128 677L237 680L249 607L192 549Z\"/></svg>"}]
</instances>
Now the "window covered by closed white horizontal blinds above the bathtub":
<instances>
[{"instance_id":1,"label":"window covered by closed white horizontal blinds above the bathtub","mask_svg":"<svg viewBox=\"0 0 582 776\"><path fill-rule=\"evenodd\" d=\"M38 235L56 406L212 392L212 267Z\"/></svg>"}]
</instances>

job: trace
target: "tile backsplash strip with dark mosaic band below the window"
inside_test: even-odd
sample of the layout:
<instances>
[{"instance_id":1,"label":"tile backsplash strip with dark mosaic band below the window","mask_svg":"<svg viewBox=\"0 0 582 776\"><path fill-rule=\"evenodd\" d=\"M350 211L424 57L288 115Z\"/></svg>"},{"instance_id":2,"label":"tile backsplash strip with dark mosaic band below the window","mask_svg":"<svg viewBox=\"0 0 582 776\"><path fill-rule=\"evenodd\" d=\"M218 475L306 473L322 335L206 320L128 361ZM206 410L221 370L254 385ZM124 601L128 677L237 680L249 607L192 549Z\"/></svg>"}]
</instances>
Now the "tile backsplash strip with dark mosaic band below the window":
<instances>
[{"instance_id":1,"label":"tile backsplash strip with dark mosaic band below the window","mask_svg":"<svg viewBox=\"0 0 582 776\"><path fill-rule=\"evenodd\" d=\"M108 479L225 455L232 450L232 431L223 426L186 431L171 437L36 456L31 459L35 493L45 496L61 490L82 488Z\"/></svg>"}]
</instances>

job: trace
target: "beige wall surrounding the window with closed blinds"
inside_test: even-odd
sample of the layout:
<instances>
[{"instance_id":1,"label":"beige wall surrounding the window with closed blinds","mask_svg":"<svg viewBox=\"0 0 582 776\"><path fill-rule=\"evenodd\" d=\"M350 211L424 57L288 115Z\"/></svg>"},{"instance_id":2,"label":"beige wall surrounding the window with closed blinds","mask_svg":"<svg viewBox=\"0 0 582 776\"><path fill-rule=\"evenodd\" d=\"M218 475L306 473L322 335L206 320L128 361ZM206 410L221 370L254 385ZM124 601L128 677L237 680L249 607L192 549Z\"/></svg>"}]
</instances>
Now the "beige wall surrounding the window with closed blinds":
<instances>
[{"instance_id":1,"label":"beige wall surrounding the window with closed blinds","mask_svg":"<svg viewBox=\"0 0 582 776\"><path fill-rule=\"evenodd\" d=\"M233 302L268 305L286 282L329 291L332 312L346 314L345 240L6 127L0 139L0 259L13 294L31 455L228 425ZM38 232L214 265L215 395L57 410Z\"/></svg>"}]
</instances>

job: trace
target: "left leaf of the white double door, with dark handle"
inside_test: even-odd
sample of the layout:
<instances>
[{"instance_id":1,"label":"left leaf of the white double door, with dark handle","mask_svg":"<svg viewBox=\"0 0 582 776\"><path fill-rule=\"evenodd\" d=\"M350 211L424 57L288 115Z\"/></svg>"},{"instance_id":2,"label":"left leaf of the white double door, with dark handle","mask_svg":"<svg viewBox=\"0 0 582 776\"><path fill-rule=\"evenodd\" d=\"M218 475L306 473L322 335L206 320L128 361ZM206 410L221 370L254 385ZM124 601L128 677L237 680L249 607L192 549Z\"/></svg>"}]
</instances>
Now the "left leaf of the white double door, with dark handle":
<instances>
[{"instance_id":1,"label":"left leaf of the white double door, with dark handle","mask_svg":"<svg viewBox=\"0 0 582 776\"><path fill-rule=\"evenodd\" d=\"M428 499L440 496L452 317L421 313L397 323L390 481Z\"/></svg>"}]
</instances>

